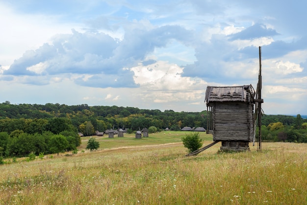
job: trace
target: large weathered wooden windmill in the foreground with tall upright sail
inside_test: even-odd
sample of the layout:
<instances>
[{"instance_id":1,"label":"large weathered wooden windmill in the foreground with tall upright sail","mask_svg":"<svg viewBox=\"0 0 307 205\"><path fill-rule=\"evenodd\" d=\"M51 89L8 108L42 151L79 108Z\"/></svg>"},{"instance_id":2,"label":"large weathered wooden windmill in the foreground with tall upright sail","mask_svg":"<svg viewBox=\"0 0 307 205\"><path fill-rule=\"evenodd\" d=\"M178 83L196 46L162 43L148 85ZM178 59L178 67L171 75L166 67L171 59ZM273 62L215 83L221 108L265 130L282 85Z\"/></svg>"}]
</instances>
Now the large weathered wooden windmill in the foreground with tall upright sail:
<instances>
[{"instance_id":1,"label":"large weathered wooden windmill in the foreground with tall upright sail","mask_svg":"<svg viewBox=\"0 0 307 205\"><path fill-rule=\"evenodd\" d=\"M198 154L218 142L222 143L221 150L249 150L249 143L255 143L257 125L258 150L261 150L261 47L259 62L256 91L252 85L206 88L206 131L213 135L213 143L186 156Z\"/></svg>"}]
</instances>

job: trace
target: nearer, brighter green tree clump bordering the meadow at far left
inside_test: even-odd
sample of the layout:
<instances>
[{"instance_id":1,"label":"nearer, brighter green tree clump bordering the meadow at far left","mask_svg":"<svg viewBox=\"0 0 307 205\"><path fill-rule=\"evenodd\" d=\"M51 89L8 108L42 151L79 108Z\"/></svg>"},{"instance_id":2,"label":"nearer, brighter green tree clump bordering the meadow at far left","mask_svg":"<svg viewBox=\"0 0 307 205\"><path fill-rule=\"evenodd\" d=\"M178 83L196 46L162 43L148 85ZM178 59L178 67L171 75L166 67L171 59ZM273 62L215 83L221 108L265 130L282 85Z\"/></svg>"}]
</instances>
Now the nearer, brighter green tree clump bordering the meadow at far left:
<instances>
[{"instance_id":1,"label":"nearer, brighter green tree clump bordering the meadow at far left","mask_svg":"<svg viewBox=\"0 0 307 205\"><path fill-rule=\"evenodd\" d=\"M0 119L0 156L59 153L80 145L77 128L68 118Z\"/></svg>"}]
</instances>

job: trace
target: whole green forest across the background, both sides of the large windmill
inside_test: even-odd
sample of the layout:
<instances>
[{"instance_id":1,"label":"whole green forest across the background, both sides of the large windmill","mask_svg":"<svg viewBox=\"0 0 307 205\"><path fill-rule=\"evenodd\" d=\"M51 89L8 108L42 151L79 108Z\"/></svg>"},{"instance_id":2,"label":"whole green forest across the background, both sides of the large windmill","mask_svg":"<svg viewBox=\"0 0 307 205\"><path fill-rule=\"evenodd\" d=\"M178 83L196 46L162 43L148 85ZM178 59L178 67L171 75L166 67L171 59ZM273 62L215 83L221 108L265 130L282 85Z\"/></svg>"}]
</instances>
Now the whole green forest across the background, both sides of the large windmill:
<instances>
[{"instance_id":1,"label":"whole green forest across the background, both sides of the large windmill","mask_svg":"<svg viewBox=\"0 0 307 205\"><path fill-rule=\"evenodd\" d=\"M157 131L169 128L204 127L207 111L175 112L134 107L52 104L0 104L0 156L27 156L30 153L59 153L76 150L78 132L95 135L96 130L127 128L133 132L145 127ZM262 140L307 143L307 119L301 115L263 115Z\"/></svg>"}]
</instances>

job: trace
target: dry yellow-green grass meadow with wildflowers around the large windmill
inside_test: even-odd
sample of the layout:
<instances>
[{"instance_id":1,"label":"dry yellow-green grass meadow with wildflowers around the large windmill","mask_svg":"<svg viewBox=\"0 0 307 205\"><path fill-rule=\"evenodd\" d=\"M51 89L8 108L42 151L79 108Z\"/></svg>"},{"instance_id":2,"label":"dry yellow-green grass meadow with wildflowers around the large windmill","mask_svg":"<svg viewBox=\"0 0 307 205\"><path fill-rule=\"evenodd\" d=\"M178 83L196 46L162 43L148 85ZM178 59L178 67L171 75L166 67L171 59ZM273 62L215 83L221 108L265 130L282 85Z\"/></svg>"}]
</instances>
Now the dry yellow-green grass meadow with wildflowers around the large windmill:
<instances>
[{"instance_id":1,"label":"dry yellow-green grass meadow with wildflowers around the large windmill","mask_svg":"<svg viewBox=\"0 0 307 205\"><path fill-rule=\"evenodd\" d=\"M82 138L77 154L1 165L0 205L307 205L306 144L185 157L185 134L97 137L93 152Z\"/></svg>"}]
</instances>

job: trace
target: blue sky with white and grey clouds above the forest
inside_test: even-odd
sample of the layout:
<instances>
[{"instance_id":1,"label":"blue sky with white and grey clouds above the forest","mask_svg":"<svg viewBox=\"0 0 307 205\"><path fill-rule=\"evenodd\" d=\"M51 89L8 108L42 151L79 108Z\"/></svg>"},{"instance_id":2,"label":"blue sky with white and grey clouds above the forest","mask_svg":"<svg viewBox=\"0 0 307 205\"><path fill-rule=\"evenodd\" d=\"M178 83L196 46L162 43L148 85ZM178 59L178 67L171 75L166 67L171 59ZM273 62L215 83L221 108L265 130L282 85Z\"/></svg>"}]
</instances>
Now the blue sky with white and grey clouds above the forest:
<instances>
[{"instance_id":1,"label":"blue sky with white and grey clouds above the forest","mask_svg":"<svg viewBox=\"0 0 307 205\"><path fill-rule=\"evenodd\" d=\"M201 112L207 86L307 115L302 0L0 0L0 103Z\"/></svg>"}]
</instances>

